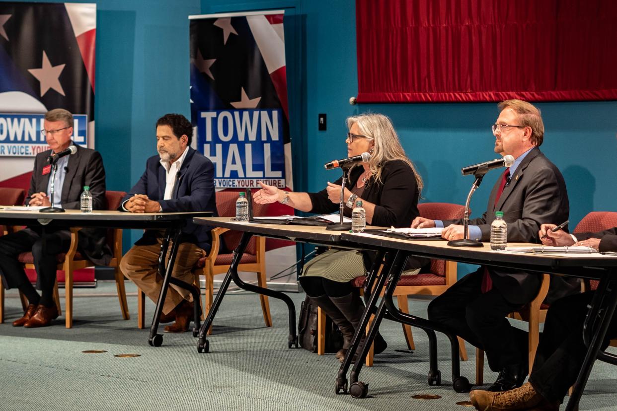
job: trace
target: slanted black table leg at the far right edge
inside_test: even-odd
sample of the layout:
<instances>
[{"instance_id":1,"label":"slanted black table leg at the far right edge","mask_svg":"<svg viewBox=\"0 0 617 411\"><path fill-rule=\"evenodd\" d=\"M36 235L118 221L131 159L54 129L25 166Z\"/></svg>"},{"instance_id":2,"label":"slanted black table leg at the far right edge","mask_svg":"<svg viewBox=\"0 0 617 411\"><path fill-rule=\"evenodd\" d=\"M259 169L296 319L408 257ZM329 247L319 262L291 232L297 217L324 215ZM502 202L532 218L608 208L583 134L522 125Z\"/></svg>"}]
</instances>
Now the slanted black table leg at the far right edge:
<instances>
[{"instance_id":1,"label":"slanted black table leg at the far right edge","mask_svg":"<svg viewBox=\"0 0 617 411\"><path fill-rule=\"evenodd\" d=\"M568 405L566 405L566 411L574 411L578 409L579 401L581 401L582 393L585 389L587 379L591 373L591 368L594 366L594 361L600 353L600 346L604 340L608 327L610 325L613 314L615 313L615 306L617 306L617 282L615 280L608 280L607 275L603 277L598 286L597 295L594 296L589 314L585 319L586 326L590 322L595 321L594 336L589 343L589 349L583 361L581 372L579 372L576 383L574 383L574 389L569 398ZM597 320L592 318L592 314L597 315ZM584 333L589 332L588 327L584 327Z\"/></svg>"}]
</instances>

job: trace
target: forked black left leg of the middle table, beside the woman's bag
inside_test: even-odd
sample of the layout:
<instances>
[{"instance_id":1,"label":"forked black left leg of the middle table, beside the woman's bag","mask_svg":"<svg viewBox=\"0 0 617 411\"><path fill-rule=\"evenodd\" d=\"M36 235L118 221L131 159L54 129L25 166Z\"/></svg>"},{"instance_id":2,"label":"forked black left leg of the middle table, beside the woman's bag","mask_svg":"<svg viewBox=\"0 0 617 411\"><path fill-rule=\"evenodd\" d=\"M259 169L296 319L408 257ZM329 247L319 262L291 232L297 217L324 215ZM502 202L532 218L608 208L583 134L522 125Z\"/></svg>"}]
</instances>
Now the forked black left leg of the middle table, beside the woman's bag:
<instances>
[{"instance_id":1,"label":"forked black left leg of the middle table, beside the woman's bag","mask_svg":"<svg viewBox=\"0 0 617 411\"><path fill-rule=\"evenodd\" d=\"M230 280L233 280L239 288L242 290L252 291L254 293L267 295L269 297L278 298L284 301L287 304L289 311L289 336L287 341L288 348L292 346L296 346L298 348L298 336L296 334L296 306L294 306L294 301L289 298L288 295L281 293L280 291L269 290L268 288L257 287L256 285L248 284L239 277L238 275L238 266L240 264L240 260L242 258L242 254L244 254L244 250L246 250L246 246L249 244L249 240L251 240L252 234L248 232L242 233L242 238L240 239L240 243L236 250L233 252L233 259L231 260L231 266L227 271L227 275L225 276L225 280L223 280L222 287L218 290L217 296L215 297L212 307L210 308L210 312L208 313L207 318L202 324L201 329L199 330L199 341L197 344L198 352L208 352L210 349L210 343L205 338L208 328L212 325L212 321L214 320L215 315L217 314L218 307L220 306L223 297L225 296L225 292L230 284Z\"/></svg>"}]
</instances>

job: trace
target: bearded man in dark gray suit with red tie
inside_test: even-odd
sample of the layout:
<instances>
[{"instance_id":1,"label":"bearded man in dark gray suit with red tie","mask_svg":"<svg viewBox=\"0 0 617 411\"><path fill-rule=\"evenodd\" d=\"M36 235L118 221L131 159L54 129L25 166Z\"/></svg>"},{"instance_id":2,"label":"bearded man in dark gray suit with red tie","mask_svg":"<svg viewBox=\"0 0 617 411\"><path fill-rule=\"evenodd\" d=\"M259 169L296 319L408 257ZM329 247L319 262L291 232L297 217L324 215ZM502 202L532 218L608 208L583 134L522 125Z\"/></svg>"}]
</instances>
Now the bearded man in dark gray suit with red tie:
<instances>
[{"instance_id":1,"label":"bearded man in dark gray suit with red tie","mask_svg":"<svg viewBox=\"0 0 617 411\"><path fill-rule=\"evenodd\" d=\"M560 171L538 147L544 139L540 110L528 102L506 100L498 105L493 124L495 152L515 162L492 189L487 210L470 220L470 238L488 242L495 211L503 212L508 242L539 242L540 224L568 219L566 184ZM463 238L462 221L416 218L412 227L445 227L446 240ZM578 283L552 282L551 298L572 291ZM534 299L540 277L522 271L487 269L466 275L428 307L429 319L444 324L474 346L484 349L489 367L499 372L489 391L507 391L523 384L528 367L527 333L511 327L505 316Z\"/></svg>"}]
</instances>

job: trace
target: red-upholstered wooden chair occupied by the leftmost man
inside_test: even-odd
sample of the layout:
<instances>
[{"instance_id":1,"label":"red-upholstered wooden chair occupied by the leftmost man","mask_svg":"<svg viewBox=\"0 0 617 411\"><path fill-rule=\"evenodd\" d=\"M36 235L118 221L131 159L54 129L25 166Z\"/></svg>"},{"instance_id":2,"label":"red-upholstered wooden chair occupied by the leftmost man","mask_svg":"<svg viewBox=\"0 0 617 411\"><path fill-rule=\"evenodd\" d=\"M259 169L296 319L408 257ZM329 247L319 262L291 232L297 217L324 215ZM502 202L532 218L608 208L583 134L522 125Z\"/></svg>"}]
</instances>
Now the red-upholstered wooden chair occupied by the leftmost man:
<instances>
[{"instance_id":1,"label":"red-upholstered wooden chair occupied by the leftmost man","mask_svg":"<svg viewBox=\"0 0 617 411\"><path fill-rule=\"evenodd\" d=\"M126 195L121 191L107 191L105 193L107 201L107 210L117 210L120 206L120 201ZM94 263L84 258L80 252L77 251L79 228L71 228L71 244L68 251L63 254L57 255L58 267L57 269L64 271L65 278L65 323L67 328L73 327L73 271L93 267ZM126 304L126 291L124 288L124 276L118 268L120 259L122 258L122 229L109 229L107 230L107 241L112 249L112 259L109 262L109 267L114 267L116 288L118 290L118 300L120 300L120 311L122 311L122 317L125 320L130 318L128 313L128 304ZM21 253L19 255L19 261L25 264L27 269L34 269L34 258L32 253ZM57 280L55 285L56 304L58 306L58 312L60 313L59 295L57 290Z\"/></svg>"}]
</instances>

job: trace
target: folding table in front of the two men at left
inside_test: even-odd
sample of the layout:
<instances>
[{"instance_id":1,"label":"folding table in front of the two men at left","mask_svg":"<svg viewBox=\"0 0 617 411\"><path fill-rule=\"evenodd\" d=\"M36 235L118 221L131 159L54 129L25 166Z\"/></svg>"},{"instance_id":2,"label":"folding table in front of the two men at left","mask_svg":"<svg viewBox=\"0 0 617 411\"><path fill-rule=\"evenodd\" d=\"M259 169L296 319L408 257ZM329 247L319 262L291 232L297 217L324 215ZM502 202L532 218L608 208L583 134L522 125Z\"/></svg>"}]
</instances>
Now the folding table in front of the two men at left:
<instances>
[{"instance_id":1,"label":"folding table in front of the two men at left","mask_svg":"<svg viewBox=\"0 0 617 411\"><path fill-rule=\"evenodd\" d=\"M81 213L79 210L65 210L64 213L40 213L28 208L4 207L0 208L0 224L7 226L40 226L44 230L47 227L70 228L70 227L106 227L119 229L161 229L165 230L163 244L159 256L159 274L163 277L162 290L157 301L157 306L152 318L148 343L152 346L160 346L163 336L158 333L160 314L163 309L167 288L170 283L189 290L194 301L200 301L199 290L192 284L188 284L172 277L173 264L178 253L178 238L186 221L195 217L212 215L210 211L196 213L126 213L122 211L94 210L92 213ZM43 238L44 235L43 235ZM165 258L170 241L172 249L169 254L167 267ZM43 243L43 247L45 244ZM201 311L199 304L194 304L193 335L197 336Z\"/></svg>"}]
</instances>

